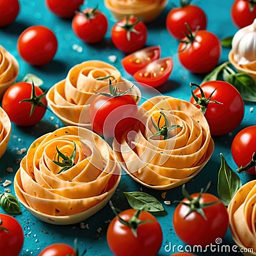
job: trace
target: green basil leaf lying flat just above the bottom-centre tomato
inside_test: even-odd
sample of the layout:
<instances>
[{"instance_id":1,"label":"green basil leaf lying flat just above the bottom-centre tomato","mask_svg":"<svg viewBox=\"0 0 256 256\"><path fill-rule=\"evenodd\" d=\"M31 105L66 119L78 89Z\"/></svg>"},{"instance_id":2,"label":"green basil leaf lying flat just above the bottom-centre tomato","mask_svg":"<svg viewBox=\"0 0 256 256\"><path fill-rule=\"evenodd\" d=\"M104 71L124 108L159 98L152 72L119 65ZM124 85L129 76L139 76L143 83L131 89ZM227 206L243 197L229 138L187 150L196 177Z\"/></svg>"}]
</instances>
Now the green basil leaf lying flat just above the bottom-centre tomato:
<instances>
[{"instance_id":1,"label":"green basil leaf lying flat just above the bottom-centre tomato","mask_svg":"<svg viewBox=\"0 0 256 256\"><path fill-rule=\"evenodd\" d=\"M164 211L164 207L154 196L144 192L124 192L129 205L133 209L143 210L148 212Z\"/></svg>"}]
</instances>

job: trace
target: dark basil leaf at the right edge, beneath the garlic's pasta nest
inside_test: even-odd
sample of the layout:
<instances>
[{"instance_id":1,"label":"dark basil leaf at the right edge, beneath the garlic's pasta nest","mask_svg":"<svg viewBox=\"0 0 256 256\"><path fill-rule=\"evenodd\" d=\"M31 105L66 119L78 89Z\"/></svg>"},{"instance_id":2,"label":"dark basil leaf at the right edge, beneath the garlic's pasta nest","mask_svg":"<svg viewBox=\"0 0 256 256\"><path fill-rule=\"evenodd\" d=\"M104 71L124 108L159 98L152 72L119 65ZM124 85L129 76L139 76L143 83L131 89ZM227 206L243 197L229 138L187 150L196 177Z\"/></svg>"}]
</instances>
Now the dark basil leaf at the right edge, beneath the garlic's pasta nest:
<instances>
[{"instance_id":1,"label":"dark basil leaf at the right edge, beneath the garlic's pasta nest","mask_svg":"<svg viewBox=\"0 0 256 256\"><path fill-rule=\"evenodd\" d=\"M254 79L246 73L237 73L234 75L232 84L241 93L244 100L256 102L256 83Z\"/></svg>"}]
</instances>

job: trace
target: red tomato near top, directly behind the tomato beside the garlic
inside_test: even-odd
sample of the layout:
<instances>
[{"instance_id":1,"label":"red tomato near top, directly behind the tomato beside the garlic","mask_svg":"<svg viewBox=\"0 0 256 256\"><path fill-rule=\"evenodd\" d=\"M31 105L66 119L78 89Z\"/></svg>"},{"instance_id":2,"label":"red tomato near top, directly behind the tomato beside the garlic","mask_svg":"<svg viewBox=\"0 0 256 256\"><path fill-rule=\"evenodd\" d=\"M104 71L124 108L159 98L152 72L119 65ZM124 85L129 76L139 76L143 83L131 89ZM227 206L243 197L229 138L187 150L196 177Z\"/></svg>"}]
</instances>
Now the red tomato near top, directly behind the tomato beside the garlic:
<instances>
[{"instance_id":1,"label":"red tomato near top, directly behind the tomato beside the garlic","mask_svg":"<svg viewBox=\"0 0 256 256\"><path fill-rule=\"evenodd\" d=\"M184 4L184 6L170 10L166 18L166 28L173 37L182 39L185 33L189 33L186 23L192 31L197 28L206 29L205 12L193 4Z\"/></svg>"}]
</instances>

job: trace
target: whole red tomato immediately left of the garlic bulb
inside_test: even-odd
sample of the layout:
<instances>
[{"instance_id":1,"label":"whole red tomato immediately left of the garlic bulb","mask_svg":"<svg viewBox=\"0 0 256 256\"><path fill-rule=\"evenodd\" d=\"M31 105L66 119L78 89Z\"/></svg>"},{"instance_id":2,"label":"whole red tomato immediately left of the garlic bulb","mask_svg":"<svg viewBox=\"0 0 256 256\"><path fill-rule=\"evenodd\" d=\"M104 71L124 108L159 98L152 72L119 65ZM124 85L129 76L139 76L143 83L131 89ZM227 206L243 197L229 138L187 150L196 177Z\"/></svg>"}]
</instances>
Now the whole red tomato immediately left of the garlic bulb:
<instances>
[{"instance_id":1,"label":"whole red tomato immediately left of the garlic bulb","mask_svg":"<svg viewBox=\"0 0 256 256\"><path fill-rule=\"evenodd\" d=\"M186 69L203 74L216 67L221 54L221 43L216 35L199 30L183 40L188 40L188 43L180 42L178 56Z\"/></svg>"}]
</instances>

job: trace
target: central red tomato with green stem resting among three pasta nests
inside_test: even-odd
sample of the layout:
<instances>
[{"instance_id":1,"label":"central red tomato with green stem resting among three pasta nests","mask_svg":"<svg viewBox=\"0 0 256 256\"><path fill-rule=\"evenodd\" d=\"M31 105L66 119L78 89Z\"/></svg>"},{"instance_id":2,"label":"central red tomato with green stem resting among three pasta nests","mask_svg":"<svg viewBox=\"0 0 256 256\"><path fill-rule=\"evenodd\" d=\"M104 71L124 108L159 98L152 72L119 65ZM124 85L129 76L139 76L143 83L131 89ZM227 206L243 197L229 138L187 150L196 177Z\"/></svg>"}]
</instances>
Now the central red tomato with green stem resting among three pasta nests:
<instances>
[{"instance_id":1,"label":"central red tomato with green stem resting among three pasta nests","mask_svg":"<svg viewBox=\"0 0 256 256\"><path fill-rule=\"evenodd\" d=\"M130 89L132 90L132 88ZM90 103L89 117L92 129L108 138L120 138L136 122L138 107L130 90L120 92L109 80L109 92L100 92Z\"/></svg>"}]
</instances>

